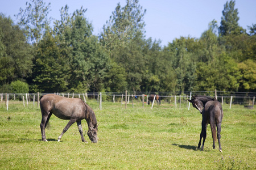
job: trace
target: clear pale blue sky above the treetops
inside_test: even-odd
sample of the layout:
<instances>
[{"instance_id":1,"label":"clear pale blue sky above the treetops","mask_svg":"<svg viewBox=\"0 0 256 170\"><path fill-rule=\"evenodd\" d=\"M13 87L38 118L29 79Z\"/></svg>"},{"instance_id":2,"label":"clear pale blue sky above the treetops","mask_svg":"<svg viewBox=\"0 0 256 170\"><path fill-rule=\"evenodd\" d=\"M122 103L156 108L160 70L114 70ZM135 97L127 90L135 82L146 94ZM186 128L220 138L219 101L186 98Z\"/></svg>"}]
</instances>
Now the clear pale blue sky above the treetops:
<instances>
[{"instance_id":1,"label":"clear pale blue sky above the treetops","mask_svg":"<svg viewBox=\"0 0 256 170\"><path fill-rule=\"evenodd\" d=\"M30 0L0 0L0 12L10 16L16 23L15 14L19 8L26 8L26 2ZM117 3L125 6L126 0L44 0L51 3L49 16L60 19L60 8L68 5L69 13L87 8L85 17L93 24L93 34L99 35L103 25L109 20ZM213 19L221 22L224 0L139 0L139 4L146 9L144 22L146 23L146 38L162 40L162 45L168 45L180 36L200 38L201 34L208 29L208 24ZM247 29L247 25L256 24L256 1L237 0L235 8L238 8L239 24Z\"/></svg>"}]
</instances>

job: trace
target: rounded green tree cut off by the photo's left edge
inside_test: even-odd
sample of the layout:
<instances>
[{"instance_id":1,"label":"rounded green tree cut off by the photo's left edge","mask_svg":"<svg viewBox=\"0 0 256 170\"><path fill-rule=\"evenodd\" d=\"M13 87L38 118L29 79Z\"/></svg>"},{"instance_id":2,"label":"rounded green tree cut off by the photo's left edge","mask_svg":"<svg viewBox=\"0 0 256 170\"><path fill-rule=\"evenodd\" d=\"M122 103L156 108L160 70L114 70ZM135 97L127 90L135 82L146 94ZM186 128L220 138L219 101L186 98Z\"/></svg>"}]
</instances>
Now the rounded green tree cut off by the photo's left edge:
<instances>
[{"instance_id":1,"label":"rounded green tree cut off by the photo's left edge","mask_svg":"<svg viewBox=\"0 0 256 170\"><path fill-rule=\"evenodd\" d=\"M0 85L31 74L31 46L25 40L19 26L0 14Z\"/></svg>"}]
</instances>

